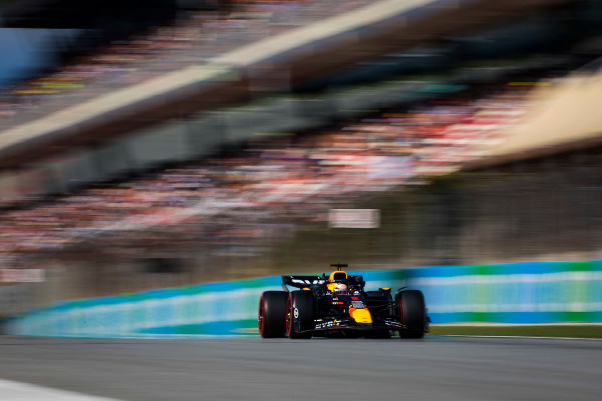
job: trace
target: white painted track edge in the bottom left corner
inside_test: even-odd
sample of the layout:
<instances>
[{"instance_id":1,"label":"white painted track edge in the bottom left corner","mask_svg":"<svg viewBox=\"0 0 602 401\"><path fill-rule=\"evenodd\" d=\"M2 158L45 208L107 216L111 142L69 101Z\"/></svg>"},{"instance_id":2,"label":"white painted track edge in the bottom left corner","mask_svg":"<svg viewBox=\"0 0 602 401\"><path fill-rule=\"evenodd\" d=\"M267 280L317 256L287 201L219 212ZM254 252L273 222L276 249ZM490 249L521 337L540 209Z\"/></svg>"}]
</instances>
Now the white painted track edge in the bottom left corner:
<instances>
[{"instance_id":1,"label":"white painted track edge in the bottom left corner","mask_svg":"<svg viewBox=\"0 0 602 401\"><path fill-rule=\"evenodd\" d=\"M89 396L75 391L59 390L36 384L0 379L0 400L10 401L119 401L114 398Z\"/></svg>"}]
</instances>

